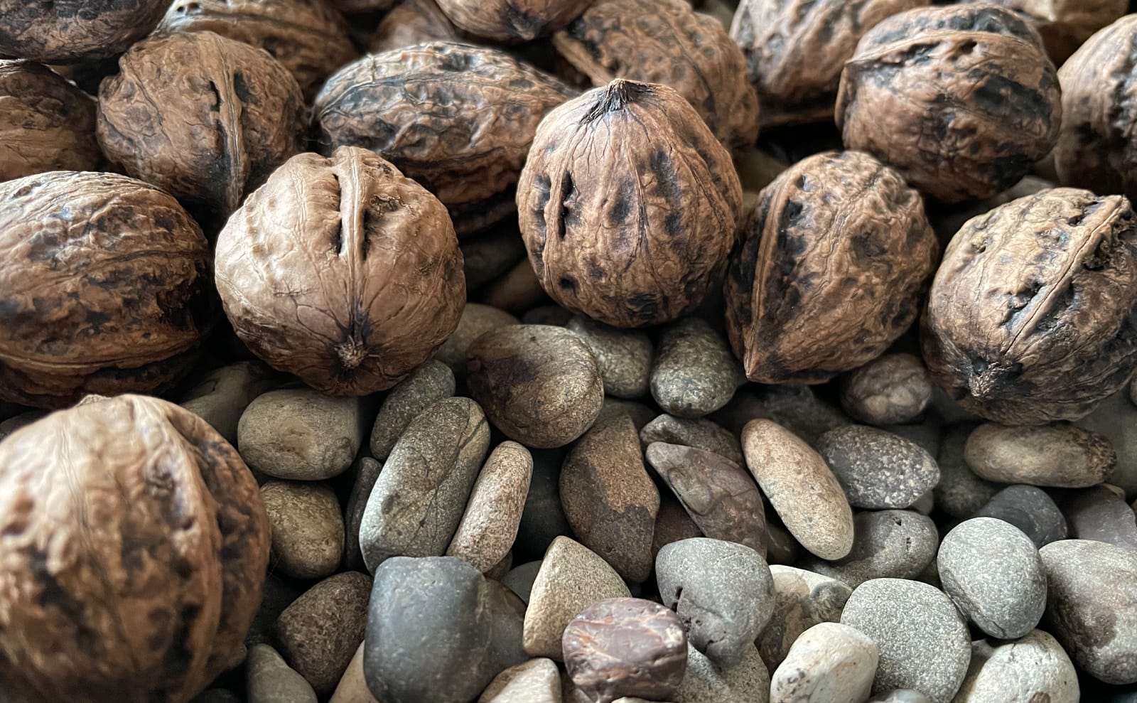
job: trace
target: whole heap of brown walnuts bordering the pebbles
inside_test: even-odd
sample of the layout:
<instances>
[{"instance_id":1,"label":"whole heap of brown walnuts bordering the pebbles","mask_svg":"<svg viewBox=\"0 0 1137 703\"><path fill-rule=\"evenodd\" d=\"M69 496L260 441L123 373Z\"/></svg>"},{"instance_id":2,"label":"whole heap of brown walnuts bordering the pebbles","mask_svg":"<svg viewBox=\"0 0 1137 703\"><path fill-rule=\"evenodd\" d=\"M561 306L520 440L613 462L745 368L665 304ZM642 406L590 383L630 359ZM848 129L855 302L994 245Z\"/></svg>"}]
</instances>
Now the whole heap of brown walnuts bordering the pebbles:
<instances>
[{"instance_id":1,"label":"whole heap of brown walnuts bordering the pebbles","mask_svg":"<svg viewBox=\"0 0 1137 703\"><path fill-rule=\"evenodd\" d=\"M648 353L695 316L745 374L719 407L907 353L944 413L1086 417L1137 370L1127 9L0 0L0 701L184 702L240 661L269 520L172 403L234 362L377 407L456 354L496 432L553 404L528 444L562 447L647 384L538 392L605 359L472 346L467 303Z\"/></svg>"}]
</instances>

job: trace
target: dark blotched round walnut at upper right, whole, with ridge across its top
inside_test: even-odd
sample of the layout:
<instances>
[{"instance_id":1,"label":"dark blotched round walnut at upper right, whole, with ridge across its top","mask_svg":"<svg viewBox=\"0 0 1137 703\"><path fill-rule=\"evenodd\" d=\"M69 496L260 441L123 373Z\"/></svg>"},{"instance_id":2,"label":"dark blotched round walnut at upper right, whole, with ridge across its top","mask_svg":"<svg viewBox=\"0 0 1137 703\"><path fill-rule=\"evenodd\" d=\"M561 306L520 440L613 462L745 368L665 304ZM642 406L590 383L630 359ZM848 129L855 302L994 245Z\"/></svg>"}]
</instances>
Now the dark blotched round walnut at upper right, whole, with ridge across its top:
<instances>
[{"instance_id":1,"label":"dark blotched round walnut at upper right, whole, with ridge across its top","mask_svg":"<svg viewBox=\"0 0 1137 703\"><path fill-rule=\"evenodd\" d=\"M848 149L947 202L1014 185L1054 147L1062 102L1041 40L990 5L929 7L873 27L841 73Z\"/></svg>"}]
</instances>

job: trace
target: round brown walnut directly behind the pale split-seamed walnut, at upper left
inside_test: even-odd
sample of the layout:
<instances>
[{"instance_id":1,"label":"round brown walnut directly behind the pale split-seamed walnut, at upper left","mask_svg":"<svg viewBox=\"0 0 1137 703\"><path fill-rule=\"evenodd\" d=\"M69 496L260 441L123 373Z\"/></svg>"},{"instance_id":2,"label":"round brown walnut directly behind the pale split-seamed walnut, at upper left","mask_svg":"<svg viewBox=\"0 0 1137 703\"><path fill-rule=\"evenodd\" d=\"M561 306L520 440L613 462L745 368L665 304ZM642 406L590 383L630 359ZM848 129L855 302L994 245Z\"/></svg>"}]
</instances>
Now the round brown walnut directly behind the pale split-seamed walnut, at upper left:
<instances>
[{"instance_id":1,"label":"round brown walnut directly behind the pale split-seamed walnut, at upper left","mask_svg":"<svg viewBox=\"0 0 1137 703\"><path fill-rule=\"evenodd\" d=\"M305 105L265 51L213 32L134 44L99 86L99 144L127 174L224 222L302 148Z\"/></svg>"}]
</instances>

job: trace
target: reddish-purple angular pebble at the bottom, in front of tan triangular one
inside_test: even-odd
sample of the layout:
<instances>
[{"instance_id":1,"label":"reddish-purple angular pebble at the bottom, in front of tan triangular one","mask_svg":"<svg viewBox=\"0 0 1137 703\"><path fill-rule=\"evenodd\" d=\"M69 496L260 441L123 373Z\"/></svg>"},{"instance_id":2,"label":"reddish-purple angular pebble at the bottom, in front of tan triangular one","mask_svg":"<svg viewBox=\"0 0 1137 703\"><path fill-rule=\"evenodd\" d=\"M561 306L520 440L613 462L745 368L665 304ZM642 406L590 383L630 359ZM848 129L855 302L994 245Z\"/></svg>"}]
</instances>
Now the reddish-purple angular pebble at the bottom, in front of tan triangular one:
<instances>
[{"instance_id":1,"label":"reddish-purple angular pebble at the bottom, in front of tan triangular one","mask_svg":"<svg viewBox=\"0 0 1137 703\"><path fill-rule=\"evenodd\" d=\"M687 672L683 623L652 601L598 601L568 623L562 644L573 684L597 703L670 698Z\"/></svg>"}]
</instances>

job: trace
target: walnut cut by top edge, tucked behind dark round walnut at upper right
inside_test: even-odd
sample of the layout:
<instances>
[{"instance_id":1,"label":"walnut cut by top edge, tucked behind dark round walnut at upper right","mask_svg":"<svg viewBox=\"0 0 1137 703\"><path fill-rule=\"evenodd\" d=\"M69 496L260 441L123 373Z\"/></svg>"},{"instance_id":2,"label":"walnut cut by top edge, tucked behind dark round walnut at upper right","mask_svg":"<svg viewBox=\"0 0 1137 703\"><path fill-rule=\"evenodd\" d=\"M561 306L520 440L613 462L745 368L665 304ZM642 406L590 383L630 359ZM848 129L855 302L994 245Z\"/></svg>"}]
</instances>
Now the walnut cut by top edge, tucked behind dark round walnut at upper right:
<instances>
[{"instance_id":1,"label":"walnut cut by top edge, tucked behind dark round walnut at upper right","mask_svg":"<svg viewBox=\"0 0 1137 703\"><path fill-rule=\"evenodd\" d=\"M742 0L730 35L762 102L762 125L833 118L845 61L886 17L930 0Z\"/></svg>"}]
</instances>

